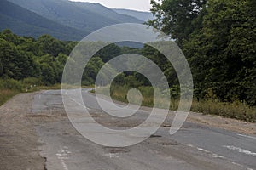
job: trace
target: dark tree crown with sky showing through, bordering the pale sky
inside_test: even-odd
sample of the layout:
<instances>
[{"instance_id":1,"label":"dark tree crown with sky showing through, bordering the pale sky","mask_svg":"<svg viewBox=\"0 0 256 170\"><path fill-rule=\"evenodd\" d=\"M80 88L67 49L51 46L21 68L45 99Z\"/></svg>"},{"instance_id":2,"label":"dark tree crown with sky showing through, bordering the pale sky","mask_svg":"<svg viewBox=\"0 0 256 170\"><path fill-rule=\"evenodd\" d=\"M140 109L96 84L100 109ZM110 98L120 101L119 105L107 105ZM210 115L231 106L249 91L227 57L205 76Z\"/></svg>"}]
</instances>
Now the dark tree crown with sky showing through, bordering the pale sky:
<instances>
[{"instance_id":1,"label":"dark tree crown with sky showing through, bordering the pale sky","mask_svg":"<svg viewBox=\"0 0 256 170\"><path fill-rule=\"evenodd\" d=\"M194 20L201 13L207 0L163 0L161 3L151 0L154 20L149 20L148 25L171 35L182 47L184 40L199 27L201 23Z\"/></svg>"}]
</instances>

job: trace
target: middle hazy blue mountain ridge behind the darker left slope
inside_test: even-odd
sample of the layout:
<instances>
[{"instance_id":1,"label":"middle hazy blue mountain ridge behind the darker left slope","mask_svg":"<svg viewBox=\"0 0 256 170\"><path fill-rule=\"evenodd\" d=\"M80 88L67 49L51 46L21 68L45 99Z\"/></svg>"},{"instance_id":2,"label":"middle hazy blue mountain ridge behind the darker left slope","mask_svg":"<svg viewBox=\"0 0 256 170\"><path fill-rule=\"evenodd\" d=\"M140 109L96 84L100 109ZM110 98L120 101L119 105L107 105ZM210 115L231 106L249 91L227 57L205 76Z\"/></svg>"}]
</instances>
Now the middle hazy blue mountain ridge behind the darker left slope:
<instances>
[{"instance_id":1,"label":"middle hazy blue mountain ridge behind the darker left slope","mask_svg":"<svg viewBox=\"0 0 256 170\"><path fill-rule=\"evenodd\" d=\"M61 25L83 31L96 31L119 23L143 23L135 17L118 14L100 3L79 3L68 0L9 0Z\"/></svg>"}]
</instances>

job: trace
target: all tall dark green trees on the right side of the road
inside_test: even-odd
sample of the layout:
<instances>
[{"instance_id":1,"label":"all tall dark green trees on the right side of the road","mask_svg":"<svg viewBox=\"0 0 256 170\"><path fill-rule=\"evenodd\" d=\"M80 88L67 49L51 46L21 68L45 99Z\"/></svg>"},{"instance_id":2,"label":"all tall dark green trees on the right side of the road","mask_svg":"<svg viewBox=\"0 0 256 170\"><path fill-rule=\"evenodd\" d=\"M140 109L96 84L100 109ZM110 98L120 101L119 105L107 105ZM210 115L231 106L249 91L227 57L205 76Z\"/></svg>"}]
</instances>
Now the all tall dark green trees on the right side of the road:
<instances>
[{"instance_id":1,"label":"all tall dark green trees on the right side of the road","mask_svg":"<svg viewBox=\"0 0 256 170\"><path fill-rule=\"evenodd\" d=\"M152 4L154 20L148 24L171 34L183 49L194 77L196 99L256 105L255 1L163 0ZM146 53L153 59L159 56L168 82L173 81L172 67L162 66L161 55Z\"/></svg>"}]
</instances>

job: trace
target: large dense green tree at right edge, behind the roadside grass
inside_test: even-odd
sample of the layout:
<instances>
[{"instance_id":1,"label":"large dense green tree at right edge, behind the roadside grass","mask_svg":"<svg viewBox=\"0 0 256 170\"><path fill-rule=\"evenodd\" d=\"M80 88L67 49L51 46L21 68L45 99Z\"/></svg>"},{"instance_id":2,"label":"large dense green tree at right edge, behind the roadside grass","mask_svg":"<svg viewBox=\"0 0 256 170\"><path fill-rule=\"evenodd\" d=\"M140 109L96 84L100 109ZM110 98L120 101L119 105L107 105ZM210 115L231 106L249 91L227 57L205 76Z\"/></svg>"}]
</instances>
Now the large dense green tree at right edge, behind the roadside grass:
<instances>
[{"instance_id":1,"label":"large dense green tree at right edge, behind the roadside grass","mask_svg":"<svg viewBox=\"0 0 256 170\"><path fill-rule=\"evenodd\" d=\"M255 5L252 0L209 0L203 28L183 44L195 92L220 101L246 100L255 85ZM252 105L252 104L250 104ZM254 104L255 105L255 102Z\"/></svg>"}]
</instances>

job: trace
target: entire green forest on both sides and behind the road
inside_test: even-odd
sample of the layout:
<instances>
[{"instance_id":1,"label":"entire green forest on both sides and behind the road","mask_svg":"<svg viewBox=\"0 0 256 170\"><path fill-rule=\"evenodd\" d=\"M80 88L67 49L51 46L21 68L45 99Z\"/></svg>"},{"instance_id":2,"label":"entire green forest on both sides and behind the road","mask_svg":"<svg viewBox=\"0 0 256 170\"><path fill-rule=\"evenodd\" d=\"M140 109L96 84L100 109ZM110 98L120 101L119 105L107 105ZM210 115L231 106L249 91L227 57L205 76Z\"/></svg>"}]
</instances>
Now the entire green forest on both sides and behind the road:
<instances>
[{"instance_id":1,"label":"entire green forest on both sides and behind the road","mask_svg":"<svg viewBox=\"0 0 256 170\"><path fill-rule=\"evenodd\" d=\"M163 0L160 3L152 0L151 3L154 20L148 20L147 24L171 35L183 50L193 74L195 101L230 105L238 103L254 108L256 1ZM36 39L16 36L10 30L2 31L0 89L24 90L28 85L50 86L61 83L66 60L77 43L60 41L49 35ZM159 65L169 82L172 98L178 99L178 80L172 65L148 45L143 48L128 48L110 44L103 48L86 66L83 85L94 84L97 72L108 60L130 53L143 54ZM124 90L146 89L150 86L148 80L136 72L119 75L113 85L125 87ZM234 114L231 117L237 118ZM253 117L255 121L255 112ZM242 119L251 118L252 115Z\"/></svg>"}]
</instances>

